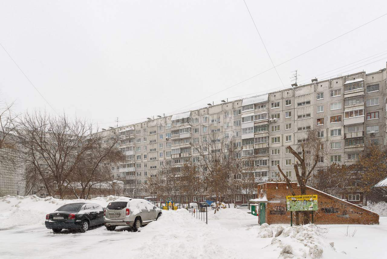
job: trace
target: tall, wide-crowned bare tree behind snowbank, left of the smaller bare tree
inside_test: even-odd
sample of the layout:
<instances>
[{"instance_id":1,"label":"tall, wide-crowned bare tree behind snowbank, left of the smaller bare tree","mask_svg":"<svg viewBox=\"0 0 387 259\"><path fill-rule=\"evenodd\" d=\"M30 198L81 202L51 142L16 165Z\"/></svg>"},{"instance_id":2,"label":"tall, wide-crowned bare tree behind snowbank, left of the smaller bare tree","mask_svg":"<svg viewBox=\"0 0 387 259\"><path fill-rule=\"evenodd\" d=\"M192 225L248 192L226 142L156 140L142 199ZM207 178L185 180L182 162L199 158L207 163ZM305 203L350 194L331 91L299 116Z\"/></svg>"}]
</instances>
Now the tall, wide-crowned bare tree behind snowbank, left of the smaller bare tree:
<instances>
[{"instance_id":1,"label":"tall, wide-crowned bare tree behind snowbank, left of the smaller bare tree","mask_svg":"<svg viewBox=\"0 0 387 259\"><path fill-rule=\"evenodd\" d=\"M79 182L74 178L79 175L77 170L81 170L77 167L82 163L86 166L85 159L91 153L96 154L94 148L99 147L103 138L86 121L70 121L65 115L52 117L38 112L26 113L16 132L19 158L28 172L24 179L26 189L36 188L60 198L71 192L72 183ZM103 159L104 155L97 155L93 162L89 160L92 169L88 169L88 176L82 181L93 180Z\"/></svg>"}]
</instances>

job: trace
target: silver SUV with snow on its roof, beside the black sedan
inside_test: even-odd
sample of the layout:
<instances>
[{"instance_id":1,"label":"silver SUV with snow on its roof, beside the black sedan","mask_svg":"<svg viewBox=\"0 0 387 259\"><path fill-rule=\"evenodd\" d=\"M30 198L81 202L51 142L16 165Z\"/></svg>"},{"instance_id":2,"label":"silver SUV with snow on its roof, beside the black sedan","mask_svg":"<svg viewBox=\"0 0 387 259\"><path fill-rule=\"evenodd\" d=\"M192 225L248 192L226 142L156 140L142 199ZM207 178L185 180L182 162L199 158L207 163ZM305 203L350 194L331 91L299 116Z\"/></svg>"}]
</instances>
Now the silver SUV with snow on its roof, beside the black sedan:
<instances>
[{"instance_id":1,"label":"silver SUV with snow on its roof, beside the black sedan","mask_svg":"<svg viewBox=\"0 0 387 259\"><path fill-rule=\"evenodd\" d=\"M130 226L138 230L157 220L161 213L161 209L144 199L115 200L104 209L103 222L110 231L116 226Z\"/></svg>"}]
</instances>

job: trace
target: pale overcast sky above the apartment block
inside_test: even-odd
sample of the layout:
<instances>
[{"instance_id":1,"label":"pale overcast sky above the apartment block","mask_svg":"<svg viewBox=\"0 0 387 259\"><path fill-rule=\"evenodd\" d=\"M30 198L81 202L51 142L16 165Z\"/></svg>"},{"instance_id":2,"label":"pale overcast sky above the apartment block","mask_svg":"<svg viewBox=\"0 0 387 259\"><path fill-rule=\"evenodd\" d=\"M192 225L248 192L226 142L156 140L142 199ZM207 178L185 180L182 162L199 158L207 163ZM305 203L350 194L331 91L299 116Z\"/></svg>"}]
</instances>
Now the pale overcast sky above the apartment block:
<instances>
[{"instance_id":1,"label":"pale overcast sky above the apartment block","mask_svg":"<svg viewBox=\"0 0 387 259\"><path fill-rule=\"evenodd\" d=\"M380 0L246 2L275 65L387 12ZM278 66L285 87L295 69L308 83L385 68L386 24L381 17ZM283 88L274 69L229 88L272 67L243 0L3 0L0 35L56 112L101 128ZM0 100L53 112L1 47Z\"/></svg>"}]
</instances>

